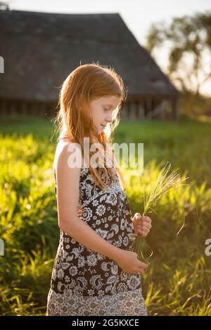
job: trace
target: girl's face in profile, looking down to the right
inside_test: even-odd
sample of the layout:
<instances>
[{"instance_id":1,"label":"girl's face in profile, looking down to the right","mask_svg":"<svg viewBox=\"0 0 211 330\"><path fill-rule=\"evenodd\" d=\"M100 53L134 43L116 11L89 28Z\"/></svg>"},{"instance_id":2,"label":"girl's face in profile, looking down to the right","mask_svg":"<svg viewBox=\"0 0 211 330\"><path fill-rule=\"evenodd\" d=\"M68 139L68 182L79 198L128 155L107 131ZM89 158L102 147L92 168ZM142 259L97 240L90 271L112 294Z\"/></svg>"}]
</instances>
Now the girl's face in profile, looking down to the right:
<instances>
[{"instance_id":1,"label":"girl's face in profile, looking down to the right","mask_svg":"<svg viewBox=\"0 0 211 330\"><path fill-rule=\"evenodd\" d=\"M120 98L115 95L104 96L90 102L93 124L98 129L98 134L101 134L106 125L113 121L114 110L119 103Z\"/></svg>"}]
</instances>

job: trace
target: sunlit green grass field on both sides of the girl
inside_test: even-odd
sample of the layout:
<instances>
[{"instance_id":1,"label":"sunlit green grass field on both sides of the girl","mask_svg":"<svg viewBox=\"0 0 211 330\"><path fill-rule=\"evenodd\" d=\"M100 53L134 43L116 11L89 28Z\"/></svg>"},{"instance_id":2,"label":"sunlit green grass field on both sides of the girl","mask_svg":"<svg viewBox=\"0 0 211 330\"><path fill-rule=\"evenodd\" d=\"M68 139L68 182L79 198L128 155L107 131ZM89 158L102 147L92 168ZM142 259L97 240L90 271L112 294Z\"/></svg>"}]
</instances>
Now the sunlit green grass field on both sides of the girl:
<instances>
[{"instance_id":1,"label":"sunlit green grass field on both sides of the girl","mask_svg":"<svg viewBox=\"0 0 211 330\"><path fill-rule=\"evenodd\" d=\"M0 315L45 315L58 246L51 167L56 137L50 119L0 119ZM188 176L151 213L151 265L142 276L149 315L211 315L211 124L183 119L120 122L115 142L144 143L144 172L127 176L132 212L143 210L143 190L166 161ZM185 222L179 235L177 232Z\"/></svg>"}]
</instances>

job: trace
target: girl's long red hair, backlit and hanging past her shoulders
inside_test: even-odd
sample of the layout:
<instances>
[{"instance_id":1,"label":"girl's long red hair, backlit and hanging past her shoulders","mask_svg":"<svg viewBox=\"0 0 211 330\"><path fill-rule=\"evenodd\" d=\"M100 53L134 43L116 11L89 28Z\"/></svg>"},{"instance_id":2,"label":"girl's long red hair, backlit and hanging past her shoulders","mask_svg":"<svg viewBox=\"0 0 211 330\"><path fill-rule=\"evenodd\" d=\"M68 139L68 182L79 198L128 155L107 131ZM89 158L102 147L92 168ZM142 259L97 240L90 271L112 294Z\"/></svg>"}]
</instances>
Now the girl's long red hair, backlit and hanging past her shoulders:
<instances>
[{"instance_id":1,"label":"girl's long red hair, backlit and hanging past her shoulders","mask_svg":"<svg viewBox=\"0 0 211 330\"><path fill-rule=\"evenodd\" d=\"M114 111L113 122L108 124L106 131L98 134L93 125L89 103L91 100L113 95L120 98L120 103ZM115 70L108 66L99 65L98 63L80 65L68 75L60 88L58 100L59 111L56 116L58 140L63 137L69 137L75 143L79 143L82 147L82 155L84 157L84 138L89 138L90 145L92 143L101 143L106 154L106 145L113 142L113 131L120 122L120 109L125 99L124 83ZM90 152L89 160L91 155ZM124 186L124 178L120 167L115 161L113 151L111 157L112 164L115 164L122 186ZM107 187L108 176L115 181L115 171L113 171L113 168L106 167L106 164L105 166L101 166L104 177L106 178L106 181L103 181L98 168L92 167L90 162L89 164L94 182L102 190Z\"/></svg>"}]
</instances>

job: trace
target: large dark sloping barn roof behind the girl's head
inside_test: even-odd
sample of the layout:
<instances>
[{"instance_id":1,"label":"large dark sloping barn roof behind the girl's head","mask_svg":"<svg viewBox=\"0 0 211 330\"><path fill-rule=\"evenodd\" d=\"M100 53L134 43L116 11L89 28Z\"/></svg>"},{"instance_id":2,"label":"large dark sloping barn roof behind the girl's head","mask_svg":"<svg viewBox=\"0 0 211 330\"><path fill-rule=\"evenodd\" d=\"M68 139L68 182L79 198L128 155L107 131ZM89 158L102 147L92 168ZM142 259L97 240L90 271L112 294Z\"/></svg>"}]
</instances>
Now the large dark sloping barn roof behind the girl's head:
<instances>
[{"instance_id":1,"label":"large dark sloping barn roof behind the girl's head","mask_svg":"<svg viewBox=\"0 0 211 330\"><path fill-rule=\"evenodd\" d=\"M128 97L177 96L118 13L0 11L0 98L57 100L65 77L99 62L121 75Z\"/></svg>"}]
</instances>

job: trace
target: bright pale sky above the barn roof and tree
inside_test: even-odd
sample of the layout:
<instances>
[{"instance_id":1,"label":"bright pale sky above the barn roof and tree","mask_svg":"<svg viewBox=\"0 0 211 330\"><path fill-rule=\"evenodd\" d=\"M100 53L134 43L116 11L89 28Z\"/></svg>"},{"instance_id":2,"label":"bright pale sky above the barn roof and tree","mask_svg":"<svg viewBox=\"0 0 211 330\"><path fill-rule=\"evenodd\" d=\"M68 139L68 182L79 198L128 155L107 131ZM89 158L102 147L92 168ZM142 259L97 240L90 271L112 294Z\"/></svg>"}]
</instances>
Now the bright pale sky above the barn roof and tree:
<instances>
[{"instance_id":1,"label":"bright pale sky above the barn roof and tree","mask_svg":"<svg viewBox=\"0 0 211 330\"><path fill-rule=\"evenodd\" d=\"M146 34L152 23L170 22L174 17L211 11L211 0L11 0L9 3L11 9L21 11L120 13L142 46L146 44ZM158 54L156 62L163 71L166 70L165 50ZM207 88L205 86L205 93Z\"/></svg>"}]
</instances>

